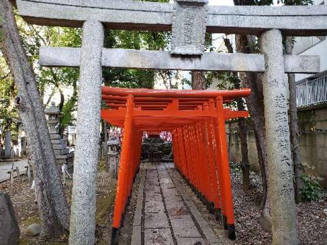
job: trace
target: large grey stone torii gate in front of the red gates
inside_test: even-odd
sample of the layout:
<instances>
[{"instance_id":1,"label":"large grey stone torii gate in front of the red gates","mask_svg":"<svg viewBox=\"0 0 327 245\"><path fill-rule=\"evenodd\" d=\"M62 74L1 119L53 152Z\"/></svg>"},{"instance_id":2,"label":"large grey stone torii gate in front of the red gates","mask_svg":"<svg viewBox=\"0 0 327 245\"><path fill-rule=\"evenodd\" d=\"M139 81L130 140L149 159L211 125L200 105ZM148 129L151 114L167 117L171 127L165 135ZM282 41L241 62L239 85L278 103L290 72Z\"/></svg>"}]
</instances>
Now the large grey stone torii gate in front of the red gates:
<instances>
[{"instance_id":1,"label":"large grey stone torii gate in front of the red gates","mask_svg":"<svg viewBox=\"0 0 327 245\"><path fill-rule=\"evenodd\" d=\"M44 66L80 67L70 244L94 244L102 66L260 72L263 76L273 244L297 244L285 73L315 73L319 57L283 56L282 35L327 35L327 6L208 6L130 0L16 0L28 23L83 27L81 48L41 48ZM172 31L172 51L103 48L104 28ZM204 34L260 36L261 54L203 53ZM283 208L282 208L283 207Z\"/></svg>"}]
</instances>

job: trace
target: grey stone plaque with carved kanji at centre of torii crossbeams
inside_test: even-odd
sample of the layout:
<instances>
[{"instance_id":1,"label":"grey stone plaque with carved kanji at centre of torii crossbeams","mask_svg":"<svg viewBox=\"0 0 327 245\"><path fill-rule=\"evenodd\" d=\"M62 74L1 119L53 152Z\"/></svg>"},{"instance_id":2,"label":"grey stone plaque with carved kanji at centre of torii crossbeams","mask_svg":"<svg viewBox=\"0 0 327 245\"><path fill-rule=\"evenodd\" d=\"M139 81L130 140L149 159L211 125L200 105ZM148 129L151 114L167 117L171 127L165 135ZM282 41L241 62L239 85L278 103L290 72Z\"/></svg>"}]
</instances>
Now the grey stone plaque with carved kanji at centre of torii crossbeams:
<instances>
[{"instance_id":1,"label":"grey stone plaque with carved kanji at centre of torii crossbeams","mask_svg":"<svg viewBox=\"0 0 327 245\"><path fill-rule=\"evenodd\" d=\"M208 0L177 0L172 24L173 55L203 55Z\"/></svg>"}]
</instances>

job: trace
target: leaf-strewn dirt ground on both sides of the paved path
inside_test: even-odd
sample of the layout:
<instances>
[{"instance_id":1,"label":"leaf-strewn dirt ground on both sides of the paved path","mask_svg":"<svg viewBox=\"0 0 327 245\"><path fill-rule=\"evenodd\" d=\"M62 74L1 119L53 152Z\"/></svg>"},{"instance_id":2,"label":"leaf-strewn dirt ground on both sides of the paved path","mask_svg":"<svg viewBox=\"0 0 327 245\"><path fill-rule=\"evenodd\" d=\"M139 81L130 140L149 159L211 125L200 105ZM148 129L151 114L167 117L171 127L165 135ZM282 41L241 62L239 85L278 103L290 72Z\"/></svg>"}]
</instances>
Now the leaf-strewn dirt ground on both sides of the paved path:
<instances>
[{"instance_id":1,"label":"leaf-strewn dirt ground on both sides of the paved path","mask_svg":"<svg viewBox=\"0 0 327 245\"><path fill-rule=\"evenodd\" d=\"M235 244L271 244L271 233L262 230L260 219L260 207L262 199L261 179L258 175L251 173L252 188L248 191L242 190L242 176L238 171L232 171L233 196L235 202L237 240ZM38 223L38 210L34 196L27 178L21 177L21 190L11 197L18 219L21 237L19 244L67 244L67 237L58 241L43 241L39 237L28 237L24 230L33 223ZM131 227L136 206L136 195L139 177L135 179L130 206L127 208L124 226L121 230L120 244L130 245ZM17 181L15 179L15 185ZM71 203L72 180L67 179L65 193L68 204ZM0 184L0 191L9 192L9 181ZM97 188L97 231L96 244L109 244L111 238L111 222L114 202L115 181L105 171L98 174ZM217 223L213 215L209 214L202 203L194 196L193 201L199 205L199 210L207 220L208 224L221 238L221 223ZM302 245L326 245L327 244L327 192L316 202L301 203L297 205L297 222L300 244ZM220 231L220 233L219 233ZM224 244L234 244L224 238Z\"/></svg>"}]
</instances>

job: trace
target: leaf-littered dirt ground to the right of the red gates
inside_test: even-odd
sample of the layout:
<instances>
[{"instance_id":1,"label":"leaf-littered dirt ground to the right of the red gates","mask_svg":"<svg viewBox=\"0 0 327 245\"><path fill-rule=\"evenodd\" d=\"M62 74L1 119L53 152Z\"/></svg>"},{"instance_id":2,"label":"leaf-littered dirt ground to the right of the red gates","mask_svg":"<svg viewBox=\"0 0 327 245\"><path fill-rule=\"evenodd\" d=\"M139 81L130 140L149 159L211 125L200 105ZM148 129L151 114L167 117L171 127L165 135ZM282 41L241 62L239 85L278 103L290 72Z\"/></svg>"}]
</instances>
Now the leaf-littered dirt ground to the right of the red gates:
<instances>
[{"instance_id":1,"label":"leaf-littered dirt ground to the right of the red gates","mask_svg":"<svg viewBox=\"0 0 327 245\"><path fill-rule=\"evenodd\" d=\"M235 244L271 244L271 233L265 232L260 224L262 187L261 178L251 173L252 188L242 189L242 173L231 172L235 204L237 240ZM299 244L327 244L327 191L315 202L296 205Z\"/></svg>"}]
</instances>

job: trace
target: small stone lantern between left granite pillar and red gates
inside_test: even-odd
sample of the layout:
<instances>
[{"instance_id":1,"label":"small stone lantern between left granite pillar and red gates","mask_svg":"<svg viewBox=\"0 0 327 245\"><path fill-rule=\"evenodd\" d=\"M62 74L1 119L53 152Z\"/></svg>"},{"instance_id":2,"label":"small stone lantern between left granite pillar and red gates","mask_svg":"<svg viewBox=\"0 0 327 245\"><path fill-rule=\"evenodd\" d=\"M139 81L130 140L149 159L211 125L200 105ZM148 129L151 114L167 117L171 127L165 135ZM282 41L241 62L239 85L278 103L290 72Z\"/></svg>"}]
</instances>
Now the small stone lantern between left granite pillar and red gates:
<instances>
[{"instance_id":1,"label":"small stone lantern between left granite pillar and red gates","mask_svg":"<svg viewBox=\"0 0 327 245\"><path fill-rule=\"evenodd\" d=\"M109 140L107 141L107 166L110 175L116 179L117 169L119 162L119 140L114 137L113 133L109 134Z\"/></svg>"}]
</instances>

